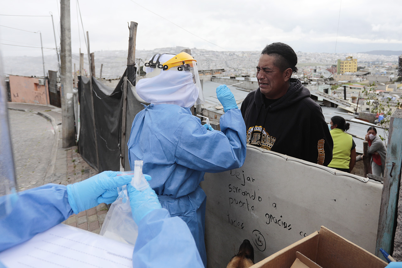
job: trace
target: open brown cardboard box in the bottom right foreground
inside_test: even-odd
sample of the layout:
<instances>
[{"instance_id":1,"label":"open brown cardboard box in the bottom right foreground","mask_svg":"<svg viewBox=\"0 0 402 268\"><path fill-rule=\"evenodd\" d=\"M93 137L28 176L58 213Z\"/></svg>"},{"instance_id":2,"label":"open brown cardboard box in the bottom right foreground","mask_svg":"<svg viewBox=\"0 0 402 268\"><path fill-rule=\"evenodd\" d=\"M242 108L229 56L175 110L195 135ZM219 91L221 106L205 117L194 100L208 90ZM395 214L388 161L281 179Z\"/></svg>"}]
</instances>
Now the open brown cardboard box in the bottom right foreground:
<instances>
[{"instance_id":1,"label":"open brown cardboard box in the bottom right foreground","mask_svg":"<svg viewBox=\"0 0 402 268\"><path fill-rule=\"evenodd\" d=\"M387 263L351 241L321 226L320 231L300 239L251 268L290 268L300 252L323 268L384 268Z\"/></svg>"}]
</instances>

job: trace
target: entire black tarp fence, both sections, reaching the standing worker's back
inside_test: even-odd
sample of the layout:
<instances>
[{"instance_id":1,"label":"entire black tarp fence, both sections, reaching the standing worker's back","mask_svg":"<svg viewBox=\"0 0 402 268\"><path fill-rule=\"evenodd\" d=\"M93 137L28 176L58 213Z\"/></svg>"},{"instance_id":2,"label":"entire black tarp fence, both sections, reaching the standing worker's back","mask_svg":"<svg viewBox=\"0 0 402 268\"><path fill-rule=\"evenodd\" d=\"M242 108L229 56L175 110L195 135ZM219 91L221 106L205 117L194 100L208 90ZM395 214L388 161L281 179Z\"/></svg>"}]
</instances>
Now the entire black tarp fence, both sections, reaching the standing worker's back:
<instances>
[{"instance_id":1,"label":"entire black tarp fence, both sections, reaching the standing worker's back","mask_svg":"<svg viewBox=\"0 0 402 268\"><path fill-rule=\"evenodd\" d=\"M130 66L129 66L130 67ZM135 83L136 68L131 68L131 80ZM127 70L113 90L92 78L92 92L94 108L92 108L89 78L80 77L78 83L78 96L80 102L80 135L78 150L82 158L93 168L102 172L105 170L120 170L121 144L124 146L124 170L130 170L128 162L127 141L131 133L131 124L135 115L142 109L144 102L130 80L127 80L127 102L125 115L125 140L121 140L121 119L123 112L123 81ZM143 104L142 104L143 103ZM94 110L94 114L92 113ZM95 119L96 142L98 147L99 164L96 158L94 127L92 117Z\"/></svg>"}]
</instances>

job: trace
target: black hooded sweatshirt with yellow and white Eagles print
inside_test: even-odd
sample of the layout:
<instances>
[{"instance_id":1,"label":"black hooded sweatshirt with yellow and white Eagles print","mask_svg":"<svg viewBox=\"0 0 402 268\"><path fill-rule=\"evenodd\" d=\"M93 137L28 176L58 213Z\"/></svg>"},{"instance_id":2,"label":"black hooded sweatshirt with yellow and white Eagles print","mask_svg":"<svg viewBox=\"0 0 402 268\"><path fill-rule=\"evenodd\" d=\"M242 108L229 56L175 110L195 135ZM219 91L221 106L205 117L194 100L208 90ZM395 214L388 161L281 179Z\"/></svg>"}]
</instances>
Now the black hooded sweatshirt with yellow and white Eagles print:
<instances>
[{"instance_id":1,"label":"black hooded sweatshirt with yellow and white Eagles print","mask_svg":"<svg viewBox=\"0 0 402 268\"><path fill-rule=\"evenodd\" d=\"M321 107L299 79L289 82L286 94L277 100L265 98L260 88L246 96L241 111L247 143L328 166L334 143Z\"/></svg>"}]
</instances>

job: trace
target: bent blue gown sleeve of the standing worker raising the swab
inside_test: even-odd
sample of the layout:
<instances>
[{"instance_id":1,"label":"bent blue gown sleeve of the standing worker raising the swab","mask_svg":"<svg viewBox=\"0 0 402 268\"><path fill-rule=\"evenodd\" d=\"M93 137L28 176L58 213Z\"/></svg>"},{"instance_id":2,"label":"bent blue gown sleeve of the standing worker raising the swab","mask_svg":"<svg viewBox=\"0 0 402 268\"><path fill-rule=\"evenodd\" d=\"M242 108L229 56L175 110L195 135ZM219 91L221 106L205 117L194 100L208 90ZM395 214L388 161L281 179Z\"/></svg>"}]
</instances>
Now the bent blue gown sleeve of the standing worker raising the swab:
<instances>
[{"instance_id":1,"label":"bent blue gown sleeve of the standing worker raising the swab","mask_svg":"<svg viewBox=\"0 0 402 268\"><path fill-rule=\"evenodd\" d=\"M239 168L246 159L246 125L240 109L221 116L221 131L207 131L196 117L178 129L175 161L204 172L222 172Z\"/></svg>"}]
</instances>

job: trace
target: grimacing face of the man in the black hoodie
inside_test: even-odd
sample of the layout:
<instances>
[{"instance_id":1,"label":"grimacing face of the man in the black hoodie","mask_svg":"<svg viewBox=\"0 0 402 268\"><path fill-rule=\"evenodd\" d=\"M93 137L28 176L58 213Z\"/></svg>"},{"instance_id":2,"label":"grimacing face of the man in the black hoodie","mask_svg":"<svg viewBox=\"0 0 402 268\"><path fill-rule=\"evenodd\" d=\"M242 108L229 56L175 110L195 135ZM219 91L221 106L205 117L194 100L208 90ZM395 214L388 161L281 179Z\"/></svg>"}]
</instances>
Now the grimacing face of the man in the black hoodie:
<instances>
[{"instance_id":1,"label":"grimacing face of the man in the black hoodie","mask_svg":"<svg viewBox=\"0 0 402 268\"><path fill-rule=\"evenodd\" d=\"M289 88L291 69L281 72L275 66L275 57L261 54L257 65L257 80L261 93L268 99L277 99L285 95Z\"/></svg>"}]
</instances>

